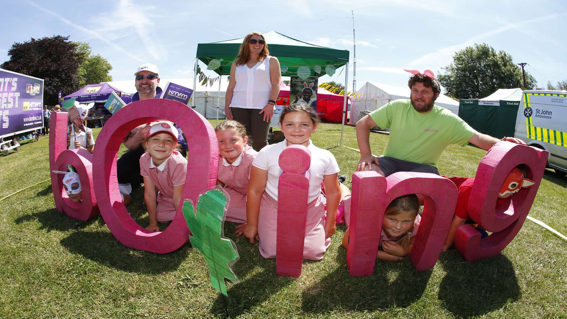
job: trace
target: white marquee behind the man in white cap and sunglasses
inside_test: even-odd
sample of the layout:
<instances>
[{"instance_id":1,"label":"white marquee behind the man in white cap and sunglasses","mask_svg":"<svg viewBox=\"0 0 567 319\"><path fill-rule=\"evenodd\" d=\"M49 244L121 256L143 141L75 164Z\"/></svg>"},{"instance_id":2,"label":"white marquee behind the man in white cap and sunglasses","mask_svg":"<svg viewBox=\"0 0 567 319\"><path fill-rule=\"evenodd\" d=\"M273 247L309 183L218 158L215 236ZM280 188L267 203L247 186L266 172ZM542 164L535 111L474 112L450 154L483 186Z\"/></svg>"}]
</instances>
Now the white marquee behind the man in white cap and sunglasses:
<instances>
[{"instance_id":1,"label":"white marquee behind the man in white cap and sunglasses","mask_svg":"<svg viewBox=\"0 0 567 319\"><path fill-rule=\"evenodd\" d=\"M136 93L136 87L134 87L135 80L125 80L125 81L112 81L108 82L109 85L116 87L116 89L121 90L126 93ZM189 89L193 89L193 79L189 78L179 78L179 79L164 79L159 80L159 86L163 88L167 82L172 82ZM222 77L221 81L221 99L219 101L218 117L219 119L225 118L225 93L226 88L229 86L229 81L226 81L226 77ZM213 86L201 85L197 83L195 93L193 93L193 98L195 99L195 111L199 112L206 119L216 119L217 118L217 96L219 94L218 82L213 83Z\"/></svg>"}]
</instances>

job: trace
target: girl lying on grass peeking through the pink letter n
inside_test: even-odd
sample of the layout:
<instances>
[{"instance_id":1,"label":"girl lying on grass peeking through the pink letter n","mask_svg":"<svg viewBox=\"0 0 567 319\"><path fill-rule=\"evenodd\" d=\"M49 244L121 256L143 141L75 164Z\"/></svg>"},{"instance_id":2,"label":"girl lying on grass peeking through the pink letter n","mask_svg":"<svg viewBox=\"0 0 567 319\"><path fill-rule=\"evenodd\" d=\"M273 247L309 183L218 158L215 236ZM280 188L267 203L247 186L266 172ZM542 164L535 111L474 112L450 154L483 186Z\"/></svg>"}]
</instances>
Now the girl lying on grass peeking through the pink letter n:
<instances>
[{"instance_id":1,"label":"girl lying on grass peeking through the pink letter n","mask_svg":"<svg viewBox=\"0 0 567 319\"><path fill-rule=\"evenodd\" d=\"M345 205L345 217L350 216L350 197L342 200ZM378 258L384 261L400 261L412 250L413 241L420 227L421 216L416 194L400 196L392 200L384 212L382 229L380 229L380 244ZM349 230L342 238L342 246L348 246Z\"/></svg>"}]
</instances>

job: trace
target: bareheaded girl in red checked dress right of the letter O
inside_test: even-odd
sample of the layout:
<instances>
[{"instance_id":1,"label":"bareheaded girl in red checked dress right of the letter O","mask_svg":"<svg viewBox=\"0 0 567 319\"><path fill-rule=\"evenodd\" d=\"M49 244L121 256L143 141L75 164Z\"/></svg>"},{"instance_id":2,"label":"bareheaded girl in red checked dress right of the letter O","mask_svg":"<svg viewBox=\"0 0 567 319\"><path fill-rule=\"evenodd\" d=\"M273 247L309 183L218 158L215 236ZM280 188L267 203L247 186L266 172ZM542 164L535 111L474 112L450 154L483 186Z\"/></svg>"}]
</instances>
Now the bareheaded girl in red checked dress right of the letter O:
<instances>
[{"instance_id":1,"label":"bareheaded girl in red checked dress right of the letter O","mask_svg":"<svg viewBox=\"0 0 567 319\"><path fill-rule=\"evenodd\" d=\"M217 132L218 161L217 184L230 196L226 220L246 223L246 194L252 162L258 154L248 145L246 128L234 120L219 123Z\"/></svg>"}]
</instances>

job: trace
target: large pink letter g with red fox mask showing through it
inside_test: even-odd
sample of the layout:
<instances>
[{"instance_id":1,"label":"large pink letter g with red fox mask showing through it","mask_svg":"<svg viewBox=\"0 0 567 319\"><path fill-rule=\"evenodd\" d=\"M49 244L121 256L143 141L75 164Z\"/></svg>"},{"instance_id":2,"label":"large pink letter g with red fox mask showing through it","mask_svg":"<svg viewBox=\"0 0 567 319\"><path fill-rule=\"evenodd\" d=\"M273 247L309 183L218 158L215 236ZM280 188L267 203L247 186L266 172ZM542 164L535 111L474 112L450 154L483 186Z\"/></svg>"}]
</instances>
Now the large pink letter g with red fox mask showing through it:
<instances>
[{"instance_id":1,"label":"large pink letter g with red fox mask showing through it","mask_svg":"<svg viewBox=\"0 0 567 319\"><path fill-rule=\"evenodd\" d=\"M534 203L548 155L547 150L507 141L494 144L486 153L476 171L468 213L472 220L492 234L481 240L481 234L472 225L465 224L457 229L455 247L467 261L500 254L518 234ZM526 169L525 177L534 181L534 185L520 188L505 204L496 208L502 183L518 165Z\"/></svg>"}]
</instances>

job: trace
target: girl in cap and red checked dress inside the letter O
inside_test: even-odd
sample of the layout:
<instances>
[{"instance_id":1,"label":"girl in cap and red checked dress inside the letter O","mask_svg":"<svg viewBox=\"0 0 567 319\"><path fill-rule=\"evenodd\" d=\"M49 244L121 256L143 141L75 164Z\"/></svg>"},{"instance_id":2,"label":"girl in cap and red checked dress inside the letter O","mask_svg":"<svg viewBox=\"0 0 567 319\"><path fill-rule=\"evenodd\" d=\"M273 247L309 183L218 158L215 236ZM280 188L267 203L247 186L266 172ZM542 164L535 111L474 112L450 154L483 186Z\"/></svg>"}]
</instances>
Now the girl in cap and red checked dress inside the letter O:
<instances>
[{"instance_id":1,"label":"girl in cap and red checked dress inside the letter O","mask_svg":"<svg viewBox=\"0 0 567 319\"><path fill-rule=\"evenodd\" d=\"M144 183L144 200L150 219L146 227L159 232L158 221L174 219L187 174L187 159L177 152L177 129L168 123L151 126L142 145L140 175ZM156 192L159 193L156 195ZM156 200L158 202L156 207Z\"/></svg>"}]
</instances>

